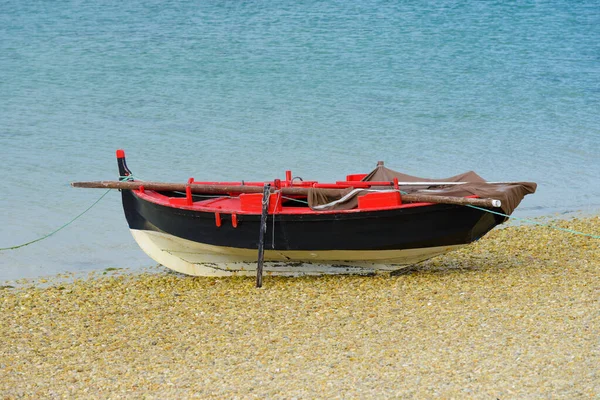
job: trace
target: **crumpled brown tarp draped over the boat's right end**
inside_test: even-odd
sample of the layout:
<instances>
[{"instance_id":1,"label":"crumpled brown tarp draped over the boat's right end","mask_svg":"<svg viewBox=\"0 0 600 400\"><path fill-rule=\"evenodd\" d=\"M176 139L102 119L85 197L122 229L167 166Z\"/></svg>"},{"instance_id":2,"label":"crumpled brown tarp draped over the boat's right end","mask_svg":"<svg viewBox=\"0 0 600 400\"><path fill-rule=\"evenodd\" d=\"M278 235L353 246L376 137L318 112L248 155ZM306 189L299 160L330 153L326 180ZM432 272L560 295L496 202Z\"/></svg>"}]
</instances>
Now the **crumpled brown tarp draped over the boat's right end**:
<instances>
[{"instance_id":1,"label":"crumpled brown tarp draped over the boat's right end","mask_svg":"<svg viewBox=\"0 0 600 400\"><path fill-rule=\"evenodd\" d=\"M485 179L477 175L473 171L465 172L464 174L451 176L445 179L427 179L417 176L406 175L401 172L391 170L383 165L377 166L363 181L370 182L391 182L394 178L398 178L399 182L431 182L431 186L425 185L401 185L400 190L405 193L437 195L437 196L455 196L464 197L476 195L480 198L497 199L502 202L502 212L510 215L519 205L523 197L534 193L537 185L533 182L513 182L513 183L487 183ZM436 182L468 182L462 185L435 185ZM390 190L390 187L373 187L372 189ZM352 189L340 191L339 195L327 195L323 190L311 189L308 192L308 205L313 208L315 206L329 204L339 200ZM344 202L327 207L327 210L350 210L358 206L358 197L368 192L360 191L354 196L351 196ZM321 208L323 210L323 208Z\"/></svg>"}]
</instances>

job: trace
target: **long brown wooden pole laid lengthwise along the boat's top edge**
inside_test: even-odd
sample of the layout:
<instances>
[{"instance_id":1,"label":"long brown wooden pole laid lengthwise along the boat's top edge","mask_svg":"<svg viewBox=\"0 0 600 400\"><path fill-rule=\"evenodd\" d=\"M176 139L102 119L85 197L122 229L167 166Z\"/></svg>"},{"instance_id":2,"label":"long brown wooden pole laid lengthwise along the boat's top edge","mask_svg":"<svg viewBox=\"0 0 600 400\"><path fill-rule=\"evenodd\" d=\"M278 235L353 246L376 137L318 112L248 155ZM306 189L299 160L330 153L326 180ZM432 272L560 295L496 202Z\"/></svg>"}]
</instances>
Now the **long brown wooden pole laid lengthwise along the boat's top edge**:
<instances>
[{"instance_id":1,"label":"long brown wooden pole laid lengthwise along the boat's top edge","mask_svg":"<svg viewBox=\"0 0 600 400\"><path fill-rule=\"evenodd\" d=\"M203 185L200 183L163 183L163 182L130 182L130 181L95 181L95 182L72 182L71 186L78 188L93 189L122 189L138 190L144 187L146 190L155 190L157 192L185 192L189 187L192 193L202 194L222 194L229 193L262 193L260 186L245 185ZM310 188L308 187L283 187L280 189L286 196L307 196ZM328 196L336 196L347 189L318 189L321 193ZM402 201L412 203L437 203L437 204L456 204L473 205L478 207L500 207L502 203L495 199L472 199L466 197L453 196L435 196L429 194L403 194Z\"/></svg>"}]
</instances>

